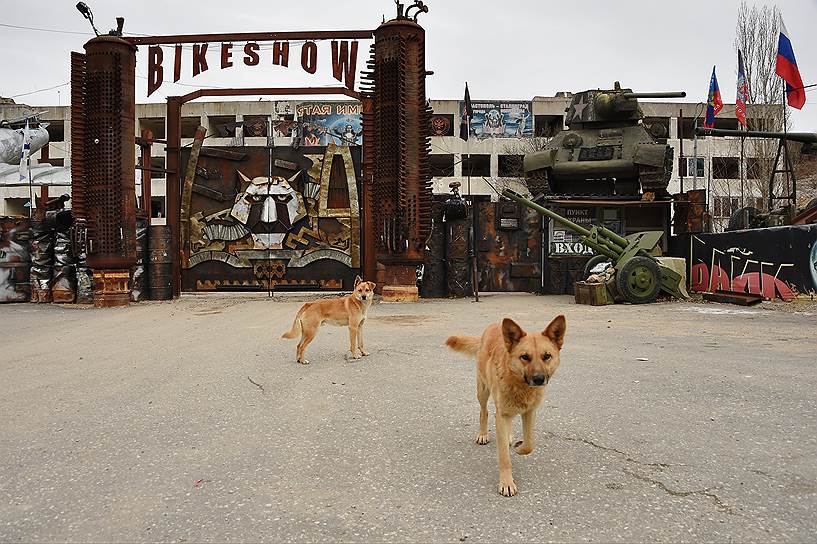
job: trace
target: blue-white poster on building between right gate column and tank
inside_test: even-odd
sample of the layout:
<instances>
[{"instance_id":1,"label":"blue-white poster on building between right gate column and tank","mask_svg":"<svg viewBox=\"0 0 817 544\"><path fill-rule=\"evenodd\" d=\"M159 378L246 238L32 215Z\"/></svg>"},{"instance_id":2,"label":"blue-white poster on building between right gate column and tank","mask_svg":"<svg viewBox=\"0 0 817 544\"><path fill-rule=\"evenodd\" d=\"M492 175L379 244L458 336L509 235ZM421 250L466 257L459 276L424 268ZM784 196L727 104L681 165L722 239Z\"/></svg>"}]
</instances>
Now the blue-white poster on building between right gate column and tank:
<instances>
[{"instance_id":1,"label":"blue-white poster on building between right gate column and tank","mask_svg":"<svg viewBox=\"0 0 817 544\"><path fill-rule=\"evenodd\" d=\"M472 102L471 135L477 138L529 138L533 136L531 102ZM460 102L460 113L465 102Z\"/></svg>"}]
</instances>

